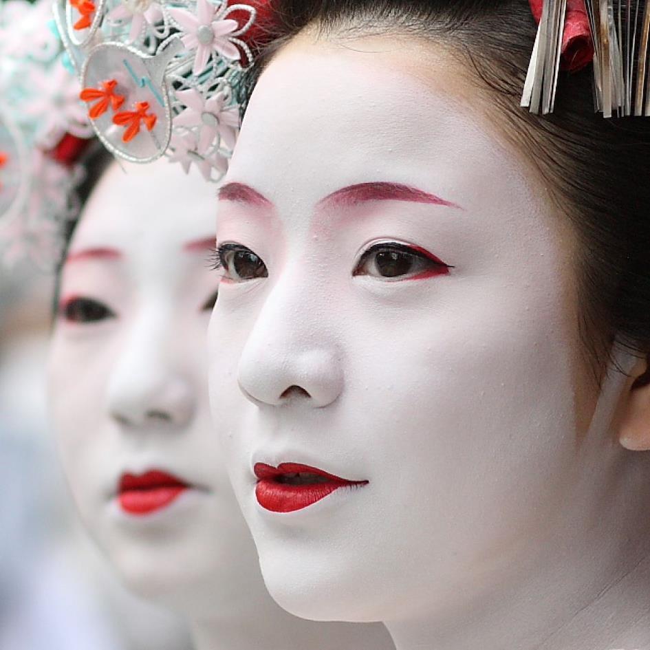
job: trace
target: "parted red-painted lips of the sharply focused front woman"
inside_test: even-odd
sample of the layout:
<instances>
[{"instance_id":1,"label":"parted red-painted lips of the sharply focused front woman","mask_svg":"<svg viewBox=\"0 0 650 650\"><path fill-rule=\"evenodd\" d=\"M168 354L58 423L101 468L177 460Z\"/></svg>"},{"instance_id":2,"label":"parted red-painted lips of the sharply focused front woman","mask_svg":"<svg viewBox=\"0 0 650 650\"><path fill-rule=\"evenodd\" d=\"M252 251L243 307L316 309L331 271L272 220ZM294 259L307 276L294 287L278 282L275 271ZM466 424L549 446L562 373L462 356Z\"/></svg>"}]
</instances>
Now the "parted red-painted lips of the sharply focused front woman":
<instances>
[{"instance_id":1,"label":"parted red-painted lips of the sharply focused front woman","mask_svg":"<svg viewBox=\"0 0 650 650\"><path fill-rule=\"evenodd\" d=\"M256 463L255 496L265 510L294 512L311 506L339 488L362 487L368 481L348 481L315 467L281 463L276 467Z\"/></svg>"}]
</instances>

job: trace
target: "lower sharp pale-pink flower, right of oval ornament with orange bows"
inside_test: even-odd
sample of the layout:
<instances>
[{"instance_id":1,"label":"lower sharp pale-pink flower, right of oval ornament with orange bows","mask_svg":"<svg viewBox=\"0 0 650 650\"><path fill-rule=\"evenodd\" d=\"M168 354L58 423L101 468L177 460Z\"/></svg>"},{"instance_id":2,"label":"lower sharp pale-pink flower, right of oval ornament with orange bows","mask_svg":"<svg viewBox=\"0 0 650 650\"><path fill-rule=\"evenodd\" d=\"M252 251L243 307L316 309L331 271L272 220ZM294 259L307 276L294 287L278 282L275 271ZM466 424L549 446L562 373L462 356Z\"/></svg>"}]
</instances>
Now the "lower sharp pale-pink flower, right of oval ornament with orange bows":
<instances>
[{"instance_id":1,"label":"lower sharp pale-pink flower, right of oval ornament with orange bows","mask_svg":"<svg viewBox=\"0 0 650 650\"><path fill-rule=\"evenodd\" d=\"M194 89L176 91L176 96L186 109L174 119L175 127L186 127L199 131L198 153L204 155L214 144L223 142L226 148L234 149L239 128L239 110L228 106L226 96L219 93L206 100Z\"/></svg>"}]
</instances>

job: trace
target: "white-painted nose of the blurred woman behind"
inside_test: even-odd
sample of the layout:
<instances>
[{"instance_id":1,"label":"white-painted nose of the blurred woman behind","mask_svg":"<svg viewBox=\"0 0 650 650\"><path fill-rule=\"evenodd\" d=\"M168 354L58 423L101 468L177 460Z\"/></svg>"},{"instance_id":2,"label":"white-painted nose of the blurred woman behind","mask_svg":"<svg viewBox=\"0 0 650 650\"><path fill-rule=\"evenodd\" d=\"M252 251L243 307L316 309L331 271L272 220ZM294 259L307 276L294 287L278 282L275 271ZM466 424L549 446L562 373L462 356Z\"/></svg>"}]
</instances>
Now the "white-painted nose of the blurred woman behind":
<instances>
[{"instance_id":1,"label":"white-painted nose of the blurred woman behind","mask_svg":"<svg viewBox=\"0 0 650 650\"><path fill-rule=\"evenodd\" d=\"M193 420L195 390L170 338L151 319L136 323L126 336L107 388L107 409L118 424L182 429Z\"/></svg>"}]
</instances>

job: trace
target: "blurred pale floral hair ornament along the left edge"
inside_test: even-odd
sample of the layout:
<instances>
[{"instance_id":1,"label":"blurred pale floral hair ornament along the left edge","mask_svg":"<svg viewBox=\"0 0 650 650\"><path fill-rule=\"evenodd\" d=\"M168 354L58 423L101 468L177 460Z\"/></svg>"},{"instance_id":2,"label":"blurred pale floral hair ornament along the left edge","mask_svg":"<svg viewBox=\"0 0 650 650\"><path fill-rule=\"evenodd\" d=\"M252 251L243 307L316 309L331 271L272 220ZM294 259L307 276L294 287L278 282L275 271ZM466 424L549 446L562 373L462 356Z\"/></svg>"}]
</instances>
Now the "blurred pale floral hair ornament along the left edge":
<instances>
[{"instance_id":1,"label":"blurred pale floral hair ornament along the left edge","mask_svg":"<svg viewBox=\"0 0 650 650\"><path fill-rule=\"evenodd\" d=\"M77 215L76 161L93 136L53 26L49 2L0 3L0 259L45 270Z\"/></svg>"}]
</instances>

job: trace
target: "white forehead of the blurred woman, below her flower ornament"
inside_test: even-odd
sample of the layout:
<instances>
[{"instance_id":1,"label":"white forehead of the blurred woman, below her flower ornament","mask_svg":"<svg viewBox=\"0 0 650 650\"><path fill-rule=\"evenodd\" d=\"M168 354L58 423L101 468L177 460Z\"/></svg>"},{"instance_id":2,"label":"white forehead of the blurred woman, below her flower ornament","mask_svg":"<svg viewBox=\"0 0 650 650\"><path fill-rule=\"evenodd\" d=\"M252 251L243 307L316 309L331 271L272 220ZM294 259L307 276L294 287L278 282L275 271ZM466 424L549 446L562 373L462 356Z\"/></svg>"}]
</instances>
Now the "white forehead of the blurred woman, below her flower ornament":
<instances>
[{"instance_id":1,"label":"white forehead of the blurred woman, below her flower ornament","mask_svg":"<svg viewBox=\"0 0 650 650\"><path fill-rule=\"evenodd\" d=\"M91 193L73 252L116 248L125 256L180 250L215 230L216 186L167 160L111 164Z\"/></svg>"}]
</instances>

